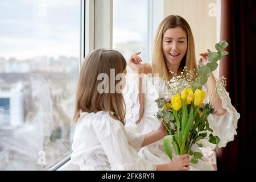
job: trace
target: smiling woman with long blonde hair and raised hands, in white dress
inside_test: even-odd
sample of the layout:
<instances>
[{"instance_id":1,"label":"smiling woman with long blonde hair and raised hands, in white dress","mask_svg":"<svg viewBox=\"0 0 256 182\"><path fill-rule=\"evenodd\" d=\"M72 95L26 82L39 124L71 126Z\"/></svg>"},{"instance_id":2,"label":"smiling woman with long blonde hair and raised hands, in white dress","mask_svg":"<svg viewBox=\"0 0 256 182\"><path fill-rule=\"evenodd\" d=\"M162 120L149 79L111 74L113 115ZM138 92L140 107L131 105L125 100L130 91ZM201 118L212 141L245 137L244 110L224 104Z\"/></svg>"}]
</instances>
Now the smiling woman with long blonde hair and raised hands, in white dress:
<instances>
[{"instance_id":1,"label":"smiling woman with long blonde hair and raised hands, in white dress","mask_svg":"<svg viewBox=\"0 0 256 182\"><path fill-rule=\"evenodd\" d=\"M195 58L195 45L193 41L193 35L189 24L185 19L180 16L170 15L163 19L160 23L155 36L155 43L152 55L152 65L141 64L140 52L135 53L129 60L129 66L136 73L152 73L155 75L158 73L160 78L169 81L172 78L172 72L179 75L186 66L188 70L195 70L197 72L197 64ZM201 53L201 61L203 64L207 64L207 53ZM148 86L144 95L130 94L126 98L126 102L133 101L132 108L127 108L127 111L132 111L128 115L135 115L133 122L127 119L127 126L131 125L134 127L134 131L138 133L147 133L150 130L156 128L157 119L154 117L158 107L155 100L158 97L162 97L165 92L166 85L164 81L154 77L154 85ZM147 82L145 77L142 82ZM141 85L141 82L139 83ZM134 90L134 86L138 84L130 84L131 90ZM155 86L155 87L154 87ZM234 139L236 135L237 121L240 118L240 114L237 113L236 109L232 106L228 92L223 88L223 92L214 92L216 87L216 80L213 74L208 78L207 86L204 90L208 93L206 101L214 104L214 110L217 112L213 115L209 115L208 121L210 127L214 130L214 135L220 137L221 141L219 147L225 147L226 143ZM157 92L157 90L159 92ZM206 140L203 142L203 151L206 158L211 158L213 163L216 162L216 156L214 152L214 144L210 144ZM193 150L200 149L195 145ZM165 154L162 146L162 142L157 144L151 144L150 146L144 147L139 152L142 158L147 159L155 164L166 163L170 159ZM216 164L216 163L215 163ZM201 170L213 170L213 167L209 163L199 160L199 164L191 164L192 167L196 167Z\"/></svg>"}]
</instances>

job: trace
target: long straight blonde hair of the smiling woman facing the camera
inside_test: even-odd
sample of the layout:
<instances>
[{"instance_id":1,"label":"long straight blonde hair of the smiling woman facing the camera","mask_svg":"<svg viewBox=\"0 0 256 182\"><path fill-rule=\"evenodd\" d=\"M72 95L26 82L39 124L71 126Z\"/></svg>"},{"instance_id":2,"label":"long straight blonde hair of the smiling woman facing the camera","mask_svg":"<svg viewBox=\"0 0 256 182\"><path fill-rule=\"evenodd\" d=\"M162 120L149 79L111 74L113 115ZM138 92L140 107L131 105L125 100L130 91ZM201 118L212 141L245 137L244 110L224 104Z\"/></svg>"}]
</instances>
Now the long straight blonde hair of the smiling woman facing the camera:
<instances>
[{"instance_id":1,"label":"long straight blonde hair of the smiling woman facing the camera","mask_svg":"<svg viewBox=\"0 0 256 182\"><path fill-rule=\"evenodd\" d=\"M192 35L191 28L189 27L188 22L177 15L167 16L162 20L159 24L158 30L156 31L153 55L152 55L152 69L154 73L158 73L159 77L164 78L166 81L169 81L173 76L166 65L166 58L163 54L162 42L163 35L169 28L181 27L185 32L187 32L187 41L188 48L185 53L183 59L181 60L180 67L178 69L177 74L183 71L184 67L187 67L188 71L193 71L195 69L195 73L197 73L197 64L196 64L196 56L195 56L195 43Z\"/></svg>"}]
</instances>

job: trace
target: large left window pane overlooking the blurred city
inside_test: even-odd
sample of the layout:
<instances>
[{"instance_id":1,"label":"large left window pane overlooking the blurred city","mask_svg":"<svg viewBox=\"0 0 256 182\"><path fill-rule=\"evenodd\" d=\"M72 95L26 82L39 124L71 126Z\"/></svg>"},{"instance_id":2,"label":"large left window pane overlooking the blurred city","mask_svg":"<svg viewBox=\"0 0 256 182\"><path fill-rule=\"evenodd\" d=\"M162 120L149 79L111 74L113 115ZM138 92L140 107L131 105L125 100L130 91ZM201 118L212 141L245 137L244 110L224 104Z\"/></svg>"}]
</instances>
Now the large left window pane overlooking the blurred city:
<instances>
[{"instance_id":1,"label":"large left window pane overlooking the blurred city","mask_svg":"<svg viewBox=\"0 0 256 182\"><path fill-rule=\"evenodd\" d=\"M0 2L0 170L47 170L71 154L83 3Z\"/></svg>"}]
</instances>

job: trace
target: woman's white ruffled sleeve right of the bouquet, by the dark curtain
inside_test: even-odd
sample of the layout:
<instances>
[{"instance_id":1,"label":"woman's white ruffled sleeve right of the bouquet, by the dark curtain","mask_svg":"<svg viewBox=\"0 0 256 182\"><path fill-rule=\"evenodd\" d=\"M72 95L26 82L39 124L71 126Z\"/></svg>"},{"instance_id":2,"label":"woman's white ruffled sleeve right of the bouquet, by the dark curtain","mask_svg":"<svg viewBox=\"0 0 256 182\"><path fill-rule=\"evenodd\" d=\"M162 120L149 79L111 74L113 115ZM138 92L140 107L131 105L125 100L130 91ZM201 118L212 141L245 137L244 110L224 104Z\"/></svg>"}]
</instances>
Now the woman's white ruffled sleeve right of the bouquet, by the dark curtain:
<instances>
[{"instance_id":1,"label":"woman's white ruffled sleeve right of the bouquet, by the dark curtain","mask_svg":"<svg viewBox=\"0 0 256 182\"><path fill-rule=\"evenodd\" d=\"M234 140L234 135L237 134L237 121L240 118L240 114L231 103L229 93L226 92L223 86L220 86L220 82L217 80L217 92L222 100L222 107L226 110L224 115L210 114L208 117L210 128L213 129L213 135L217 135L220 138L218 147L225 147L226 143ZM206 98L209 102L209 98Z\"/></svg>"}]
</instances>

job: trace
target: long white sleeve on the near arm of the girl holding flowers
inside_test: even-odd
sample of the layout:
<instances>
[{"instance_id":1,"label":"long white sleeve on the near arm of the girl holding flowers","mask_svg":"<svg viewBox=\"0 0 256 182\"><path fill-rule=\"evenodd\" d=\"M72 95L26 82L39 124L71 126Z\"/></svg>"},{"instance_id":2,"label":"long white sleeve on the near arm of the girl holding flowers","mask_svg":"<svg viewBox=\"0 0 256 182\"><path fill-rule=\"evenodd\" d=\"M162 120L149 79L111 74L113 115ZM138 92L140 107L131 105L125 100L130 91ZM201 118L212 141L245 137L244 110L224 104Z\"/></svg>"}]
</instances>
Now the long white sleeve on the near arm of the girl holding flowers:
<instances>
[{"instance_id":1,"label":"long white sleeve on the near arm of the girl holding flowers","mask_svg":"<svg viewBox=\"0 0 256 182\"><path fill-rule=\"evenodd\" d=\"M155 170L154 164L139 157L129 145L125 127L113 118L96 118L94 131L100 141L112 170Z\"/></svg>"}]
</instances>

